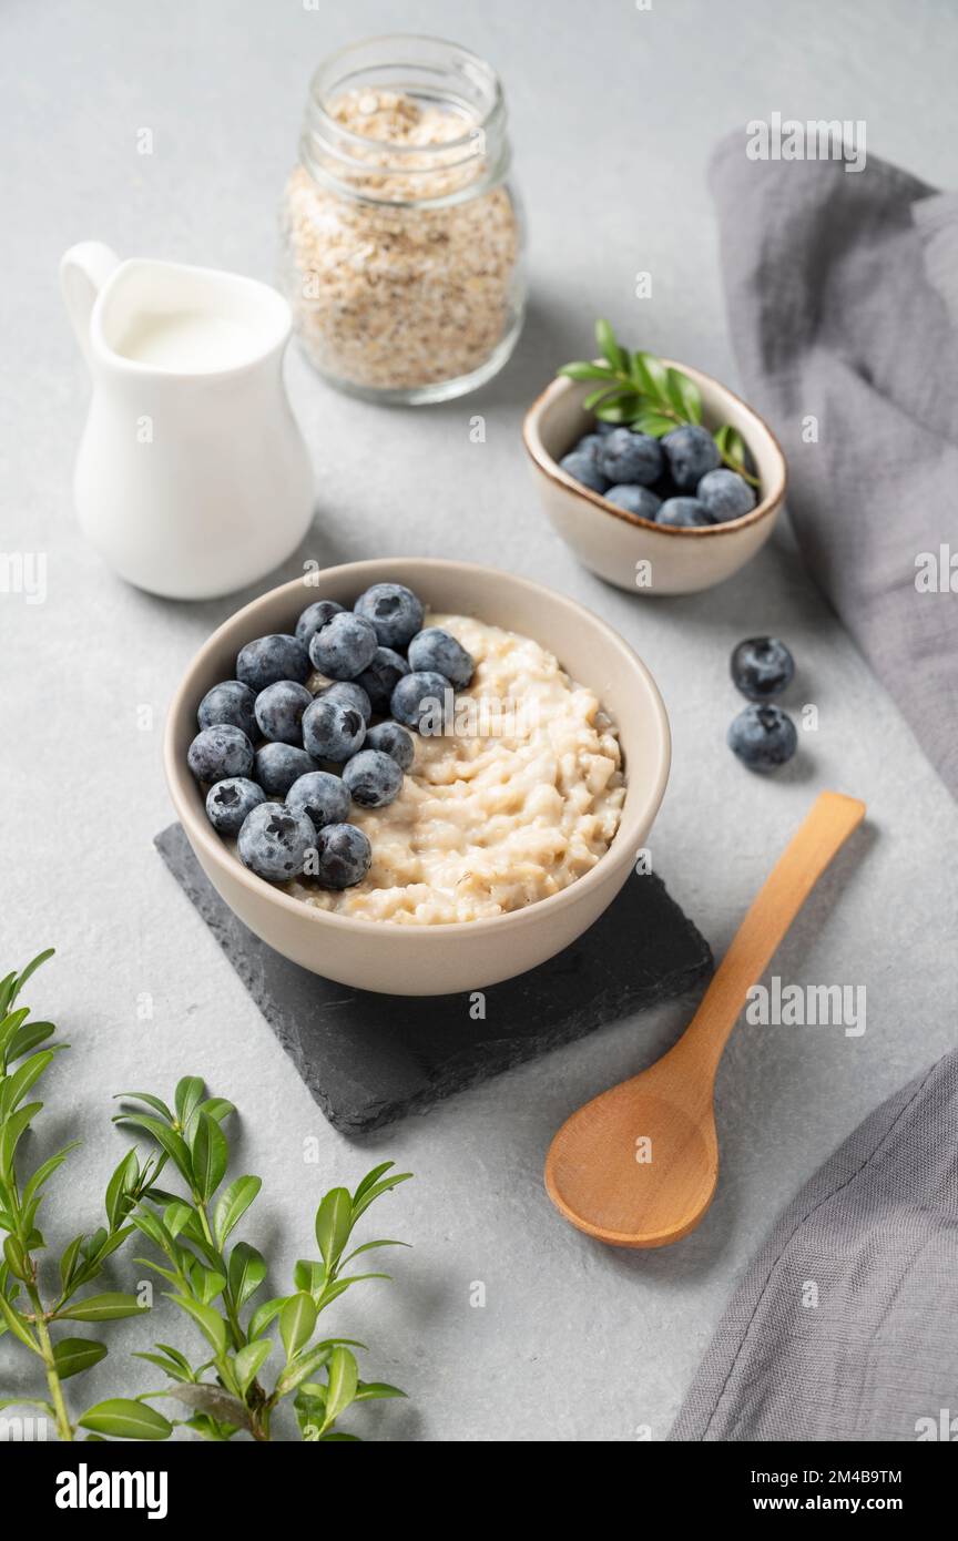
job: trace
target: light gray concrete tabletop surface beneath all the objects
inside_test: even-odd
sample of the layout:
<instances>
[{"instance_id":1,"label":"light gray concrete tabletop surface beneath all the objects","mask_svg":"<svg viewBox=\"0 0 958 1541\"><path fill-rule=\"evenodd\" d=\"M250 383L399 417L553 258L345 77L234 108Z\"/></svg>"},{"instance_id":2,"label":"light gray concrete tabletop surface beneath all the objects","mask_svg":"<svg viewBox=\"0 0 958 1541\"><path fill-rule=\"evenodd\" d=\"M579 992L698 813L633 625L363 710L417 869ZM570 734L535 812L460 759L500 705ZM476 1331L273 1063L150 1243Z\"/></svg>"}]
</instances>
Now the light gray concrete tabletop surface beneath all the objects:
<instances>
[{"instance_id":1,"label":"light gray concrete tabletop surface beneath all the objects","mask_svg":"<svg viewBox=\"0 0 958 1541\"><path fill-rule=\"evenodd\" d=\"M616 1254L567 1230L541 1168L564 1116L662 1051L692 1003L625 1022L362 1147L323 1123L151 849L171 817L159 758L166 701L236 601L166 604L128 589L72 519L88 382L57 297L62 250L97 237L123 254L270 277L313 65L350 39L396 29L456 37L502 71L533 305L507 371L442 408L347 401L290 358L319 488L300 558L454 553L528 573L607 615L652 666L672 713L655 861L719 952L819 787L870 806L870 832L821 885L775 965L785 980L864 983L867 1031L739 1028L721 1073L716 1204L698 1233L661 1254ZM57 1134L83 1139L45 1230L62 1244L95 1224L120 1151L111 1094L169 1093L188 1071L242 1110L239 1170L263 1176L246 1234L276 1257L274 1290L311 1248L325 1185L388 1157L411 1167L416 1180L384 1202L376 1228L414 1250L396 1254L394 1284L334 1307L339 1331L370 1344L368 1373L410 1393L408 1404L353 1419L370 1438L630 1441L648 1429L662 1439L779 1207L869 1108L953 1042L955 807L787 535L710 595L618 593L545 527L519 442L524 405L554 365L588 348L596 313L735 384L710 146L772 111L864 117L870 151L941 183L958 136L949 37L949 5L892 0L653 0L650 11L630 0L587 11L570 0L3 6L0 544L49 561L45 604L0 595L3 968L48 943L59 949L29 991L72 1043L49 1074L37 1148ZM151 157L137 154L143 126L154 131ZM652 300L633 297L638 270L653 274ZM470 442L476 411L485 444ZM804 735L793 774L767 784L724 747L736 709L729 650L764 629L793 646L792 701L816 704L821 724ZM137 726L143 706L152 729ZM117 1287L140 1276L122 1262ZM476 1281L484 1307L470 1305ZM173 1318L163 1302L156 1336L188 1339ZM125 1355L148 1335L120 1324L109 1359L72 1382L74 1405L152 1384ZM0 1382L26 1388L6 1344Z\"/></svg>"}]
</instances>

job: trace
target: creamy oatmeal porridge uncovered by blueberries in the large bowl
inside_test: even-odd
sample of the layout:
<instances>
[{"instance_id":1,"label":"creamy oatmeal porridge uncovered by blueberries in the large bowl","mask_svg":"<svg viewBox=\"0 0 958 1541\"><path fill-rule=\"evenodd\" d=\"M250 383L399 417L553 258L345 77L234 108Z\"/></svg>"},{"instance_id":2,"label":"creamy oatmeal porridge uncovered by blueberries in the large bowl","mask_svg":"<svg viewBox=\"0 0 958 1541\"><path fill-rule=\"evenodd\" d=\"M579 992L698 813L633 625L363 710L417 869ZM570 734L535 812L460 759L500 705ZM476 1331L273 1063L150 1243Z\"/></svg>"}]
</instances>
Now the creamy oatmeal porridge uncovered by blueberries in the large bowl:
<instances>
[{"instance_id":1,"label":"creamy oatmeal porridge uncovered by blueberries in the large bowl","mask_svg":"<svg viewBox=\"0 0 958 1541\"><path fill-rule=\"evenodd\" d=\"M396 925L481 920L568 888L616 834L622 757L595 693L527 636L459 615L427 626L471 653L471 684L450 730L414 735L396 800L353 809L373 849L362 881L285 885L308 905Z\"/></svg>"}]
</instances>

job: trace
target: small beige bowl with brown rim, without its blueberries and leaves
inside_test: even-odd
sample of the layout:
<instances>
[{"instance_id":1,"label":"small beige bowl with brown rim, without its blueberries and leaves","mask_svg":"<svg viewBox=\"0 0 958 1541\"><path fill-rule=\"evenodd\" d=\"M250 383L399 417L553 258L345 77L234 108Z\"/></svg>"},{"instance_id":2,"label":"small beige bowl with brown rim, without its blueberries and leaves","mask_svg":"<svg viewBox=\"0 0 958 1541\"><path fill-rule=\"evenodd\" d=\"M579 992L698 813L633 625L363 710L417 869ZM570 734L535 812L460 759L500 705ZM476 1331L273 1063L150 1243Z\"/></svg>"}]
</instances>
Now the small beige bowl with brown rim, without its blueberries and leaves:
<instances>
[{"instance_id":1,"label":"small beige bowl with brown rim, without its blueberries and leaves","mask_svg":"<svg viewBox=\"0 0 958 1541\"><path fill-rule=\"evenodd\" d=\"M664 362L672 364L672 359ZM785 496L785 458L772 428L710 374L687 364L675 368L701 390L705 425L732 424L752 452L762 499L741 519L695 530L653 524L618 509L561 470L562 456L595 422L582 407L595 381L559 376L533 402L522 425L542 507L553 527L585 567L630 593L695 593L732 578L772 535Z\"/></svg>"}]
</instances>

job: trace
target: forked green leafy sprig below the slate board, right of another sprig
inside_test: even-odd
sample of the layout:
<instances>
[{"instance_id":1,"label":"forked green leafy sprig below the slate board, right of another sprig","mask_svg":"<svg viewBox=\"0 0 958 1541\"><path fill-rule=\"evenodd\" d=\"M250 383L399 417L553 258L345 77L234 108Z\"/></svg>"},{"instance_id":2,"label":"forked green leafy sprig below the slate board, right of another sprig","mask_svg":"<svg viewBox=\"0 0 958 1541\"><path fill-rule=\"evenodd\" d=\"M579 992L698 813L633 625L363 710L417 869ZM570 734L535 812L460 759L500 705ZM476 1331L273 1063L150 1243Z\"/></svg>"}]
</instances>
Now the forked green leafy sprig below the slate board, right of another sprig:
<instances>
[{"instance_id":1,"label":"forked green leafy sprig below the slate board, right of another sprig","mask_svg":"<svg viewBox=\"0 0 958 1541\"><path fill-rule=\"evenodd\" d=\"M169 1299L191 1319L206 1345L200 1364L193 1364L169 1344L156 1344L156 1351L140 1353L137 1358L157 1365L173 1382L143 1396L171 1396L182 1402L191 1413L182 1422L206 1439L225 1441L245 1430L253 1439L268 1441L273 1413L285 1398L293 1398L303 1439L357 1439L336 1429L348 1407L405 1393L382 1381L360 1381L351 1350L365 1345L350 1338L317 1338L317 1324L327 1307L354 1284L388 1279L385 1273L345 1270L360 1253L405 1247L405 1242L368 1241L343 1253L370 1205L411 1173L396 1173L393 1162L384 1162L367 1173L354 1193L330 1190L316 1211L319 1257L296 1264L286 1294L254 1305L253 1298L266 1279L266 1261L246 1241L226 1245L260 1191L260 1179L251 1176L234 1177L222 1187L229 1165L223 1122L234 1111L233 1105L206 1097L199 1076L179 1082L173 1108L151 1093L123 1096L149 1111L125 1111L116 1122L156 1140L185 1187L183 1194L152 1188L146 1196L151 1202L142 1202L129 1216L131 1225L163 1259L137 1261L171 1285ZM279 1344L268 1335L270 1328L279 1331ZM262 1370L277 1347L282 1364L268 1388ZM112 1413L109 1404L102 1404L94 1410L94 1421L88 1413L82 1422L134 1439L163 1438L116 1419L106 1427L103 1419Z\"/></svg>"}]
</instances>

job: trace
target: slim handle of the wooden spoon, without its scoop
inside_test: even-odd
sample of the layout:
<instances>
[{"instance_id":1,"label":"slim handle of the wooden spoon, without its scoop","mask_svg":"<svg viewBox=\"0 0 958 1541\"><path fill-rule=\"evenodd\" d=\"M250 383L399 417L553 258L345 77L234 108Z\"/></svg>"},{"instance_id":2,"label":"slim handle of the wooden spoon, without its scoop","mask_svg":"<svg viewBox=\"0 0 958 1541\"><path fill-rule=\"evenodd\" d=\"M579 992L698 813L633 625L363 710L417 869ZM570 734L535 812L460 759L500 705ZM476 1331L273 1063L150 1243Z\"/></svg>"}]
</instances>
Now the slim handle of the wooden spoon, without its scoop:
<instances>
[{"instance_id":1,"label":"slim handle of the wooden spoon, without its scoop","mask_svg":"<svg viewBox=\"0 0 958 1541\"><path fill-rule=\"evenodd\" d=\"M855 797L841 792L818 797L752 901L673 1054L692 1053L699 1069L715 1076L749 989L765 972L818 878L864 815L866 804Z\"/></svg>"}]
</instances>

